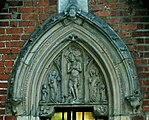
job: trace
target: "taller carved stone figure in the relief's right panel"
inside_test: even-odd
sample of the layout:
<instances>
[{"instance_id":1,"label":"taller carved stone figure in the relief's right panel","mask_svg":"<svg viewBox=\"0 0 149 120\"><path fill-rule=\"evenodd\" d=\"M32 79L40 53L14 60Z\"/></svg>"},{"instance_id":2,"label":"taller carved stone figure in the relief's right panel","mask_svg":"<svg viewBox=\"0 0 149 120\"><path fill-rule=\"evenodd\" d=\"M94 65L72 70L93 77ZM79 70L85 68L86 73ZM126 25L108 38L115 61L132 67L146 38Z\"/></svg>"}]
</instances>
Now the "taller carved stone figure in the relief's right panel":
<instances>
[{"instance_id":1,"label":"taller carved stone figure in the relief's right panel","mask_svg":"<svg viewBox=\"0 0 149 120\"><path fill-rule=\"evenodd\" d=\"M100 79L98 76L97 69L93 67L90 69L90 77L89 77L90 102L96 102L99 83Z\"/></svg>"}]
</instances>

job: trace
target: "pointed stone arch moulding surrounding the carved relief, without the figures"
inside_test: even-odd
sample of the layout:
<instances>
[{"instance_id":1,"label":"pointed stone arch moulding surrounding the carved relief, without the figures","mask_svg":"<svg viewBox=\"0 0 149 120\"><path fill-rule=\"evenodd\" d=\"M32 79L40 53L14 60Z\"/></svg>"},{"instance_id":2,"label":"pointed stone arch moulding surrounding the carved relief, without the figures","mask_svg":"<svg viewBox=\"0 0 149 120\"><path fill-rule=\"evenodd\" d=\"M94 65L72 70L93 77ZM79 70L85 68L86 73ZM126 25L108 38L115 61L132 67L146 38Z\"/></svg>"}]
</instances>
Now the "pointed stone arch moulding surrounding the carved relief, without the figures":
<instances>
[{"instance_id":1,"label":"pointed stone arch moulding surrounding the carved relief, without the figures","mask_svg":"<svg viewBox=\"0 0 149 120\"><path fill-rule=\"evenodd\" d=\"M87 62L83 56L90 56L104 76L107 102L101 104L105 104L107 110L102 113L98 109L102 106L98 103L94 106L92 102L88 104L84 100L82 104L93 106L97 116L107 115L118 120L123 119L119 116L138 112L141 99L137 75L126 45L101 19L77 11L75 16L69 13L59 14L47 21L22 49L9 84L7 107L10 113L17 115L18 119L19 116L24 116L27 120L46 116L40 110L44 106L40 102L42 85L47 83L48 70L53 61L58 56L65 59L63 53L67 52L69 46L80 50L83 68ZM66 64L66 60L61 61L59 64ZM63 72L66 66L60 68L58 73L67 76ZM85 79L87 73L83 71L81 74L82 79ZM62 100L59 104L63 105ZM76 104L78 103L74 102L71 105ZM52 114L54 105L50 106L48 115Z\"/></svg>"}]
</instances>

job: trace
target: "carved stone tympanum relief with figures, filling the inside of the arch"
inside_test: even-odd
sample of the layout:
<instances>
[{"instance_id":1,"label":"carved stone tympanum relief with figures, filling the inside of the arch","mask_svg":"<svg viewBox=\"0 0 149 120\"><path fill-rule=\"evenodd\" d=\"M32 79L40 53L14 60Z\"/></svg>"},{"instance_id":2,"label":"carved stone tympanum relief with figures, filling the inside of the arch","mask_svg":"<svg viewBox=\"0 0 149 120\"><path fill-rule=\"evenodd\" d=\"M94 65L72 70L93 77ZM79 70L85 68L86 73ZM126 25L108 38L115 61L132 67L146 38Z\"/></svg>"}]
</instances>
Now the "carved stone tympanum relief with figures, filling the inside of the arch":
<instances>
[{"instance_id":1,"label":"carved stone tympanum relief with figures, filling the inside of the arch","mask_svg":"<svg viewBox=\"0 0 149 120\"><path fill-rule=\"evenodd\" d=\"M41 86L40 115L51 115L53 107L63 105L89 105L99 114L98 108L104 107L101 114L107 114L106 93L100 67L87 50L72 41L49 65L47 79Z\"/></svg>"}]
</instances>

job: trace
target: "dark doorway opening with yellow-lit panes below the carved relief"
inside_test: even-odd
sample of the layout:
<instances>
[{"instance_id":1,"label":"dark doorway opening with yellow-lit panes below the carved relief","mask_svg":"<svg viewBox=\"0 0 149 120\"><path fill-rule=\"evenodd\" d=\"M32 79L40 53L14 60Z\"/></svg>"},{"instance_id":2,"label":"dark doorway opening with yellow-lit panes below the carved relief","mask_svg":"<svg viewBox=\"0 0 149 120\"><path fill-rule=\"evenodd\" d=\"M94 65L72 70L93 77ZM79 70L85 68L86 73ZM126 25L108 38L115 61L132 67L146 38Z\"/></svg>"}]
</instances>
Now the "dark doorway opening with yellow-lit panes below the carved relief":
<instances>
[{"instance_id":1,"label":"dark doorway opening with yellow-lit panes below the carved relief","mask_svg":"<svg viewBox=\"0 0 149 120\"><path fill-rule=\"evenodd\" d=\"M94 116L93 107L56 107L52 117L41 117L41 120L108 120L108 117Z\"/></svg>"}]
</instances>

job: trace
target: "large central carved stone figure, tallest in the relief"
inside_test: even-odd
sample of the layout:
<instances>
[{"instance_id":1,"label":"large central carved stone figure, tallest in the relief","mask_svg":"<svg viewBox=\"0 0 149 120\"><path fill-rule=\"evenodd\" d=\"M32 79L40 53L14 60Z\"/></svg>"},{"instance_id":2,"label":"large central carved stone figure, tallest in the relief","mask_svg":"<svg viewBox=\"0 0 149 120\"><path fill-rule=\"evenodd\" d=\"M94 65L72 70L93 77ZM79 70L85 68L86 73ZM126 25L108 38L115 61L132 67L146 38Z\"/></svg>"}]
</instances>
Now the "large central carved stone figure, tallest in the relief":
<instances>
[{"instance_id":1,"label":"large central carved stone figure, tallest in the relief","mask_svg":"<svg viewBox=\"0 0 149 120\"><path fill-rule=\"evenodd\" d=\"M80 72L82 71L80 52L72 48L69 50L67 63L67 72L69 75L69 93L73 98L73 101L78 101L78 87L80 82Z\"/></svg>"}]
</instances>

